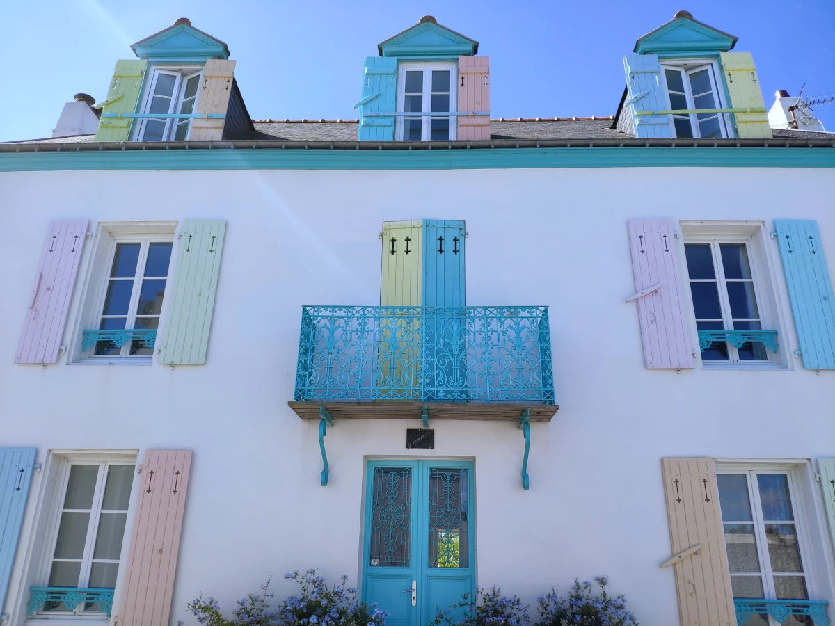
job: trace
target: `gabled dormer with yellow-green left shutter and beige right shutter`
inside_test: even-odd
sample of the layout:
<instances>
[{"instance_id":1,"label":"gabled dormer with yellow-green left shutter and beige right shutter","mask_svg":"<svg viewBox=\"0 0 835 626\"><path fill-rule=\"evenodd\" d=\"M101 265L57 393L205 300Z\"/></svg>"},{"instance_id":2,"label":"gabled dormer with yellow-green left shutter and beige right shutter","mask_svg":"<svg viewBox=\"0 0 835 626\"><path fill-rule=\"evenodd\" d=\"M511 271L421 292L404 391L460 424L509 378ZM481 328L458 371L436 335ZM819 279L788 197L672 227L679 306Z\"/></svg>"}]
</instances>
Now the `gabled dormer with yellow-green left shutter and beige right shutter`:
<instances>
[{"instance_id":1,"label":"gabled dormer with yellow-green left shutter and beige right shutter","mask_svg":"<svg viewBox=\"0 0 835 626\"><path fill-rule=\"evenodd\" d=\"M116 62L96 107L104 109L96 141L210 141L252 130L220 39L180 18L131 48L139 60Z\"/></svg>"}]
</instances>

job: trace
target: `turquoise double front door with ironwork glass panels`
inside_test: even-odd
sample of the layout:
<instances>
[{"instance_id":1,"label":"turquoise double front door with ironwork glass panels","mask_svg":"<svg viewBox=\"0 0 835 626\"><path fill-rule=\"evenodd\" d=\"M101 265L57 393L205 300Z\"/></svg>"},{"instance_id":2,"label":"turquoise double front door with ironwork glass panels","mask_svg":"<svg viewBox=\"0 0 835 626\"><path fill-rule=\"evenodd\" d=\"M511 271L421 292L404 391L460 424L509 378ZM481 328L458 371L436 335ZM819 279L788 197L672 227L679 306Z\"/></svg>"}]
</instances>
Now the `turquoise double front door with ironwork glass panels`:
<instances>
[{"instance_id":1,"label":"turquoise double front door with ironwork glass panels","mask_svg":"<svg viewBox=\"0 0 835 626\"><path fill-rule=\"evenodd\" d=\"M362 599L426 626L475 593L473 464L369 461Z\"/></svg>"}]
</instances>

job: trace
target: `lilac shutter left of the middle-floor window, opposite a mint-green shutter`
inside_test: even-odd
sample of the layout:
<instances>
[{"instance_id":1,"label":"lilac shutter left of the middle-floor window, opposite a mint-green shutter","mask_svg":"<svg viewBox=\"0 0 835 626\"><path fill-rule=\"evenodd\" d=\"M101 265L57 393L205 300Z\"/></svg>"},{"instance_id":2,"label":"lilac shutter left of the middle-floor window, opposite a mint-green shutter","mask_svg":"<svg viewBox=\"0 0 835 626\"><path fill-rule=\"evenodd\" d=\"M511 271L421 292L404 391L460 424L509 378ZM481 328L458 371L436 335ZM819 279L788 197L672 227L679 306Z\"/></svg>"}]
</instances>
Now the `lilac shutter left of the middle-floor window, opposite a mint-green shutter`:
<instances>
[{"instance_id":1,"label":"lilac shutter left of the middle-floor window, opposite a mint-green shutter","mask_svg":"<svg viewBox=\"0 0 835 626\"><path fill-rule=\"evenodd\" d=\"M28 310L15 363L54 363L78 276L87 220L50 222L38 272L28 295Z\"/></svg>"}]
</instances>

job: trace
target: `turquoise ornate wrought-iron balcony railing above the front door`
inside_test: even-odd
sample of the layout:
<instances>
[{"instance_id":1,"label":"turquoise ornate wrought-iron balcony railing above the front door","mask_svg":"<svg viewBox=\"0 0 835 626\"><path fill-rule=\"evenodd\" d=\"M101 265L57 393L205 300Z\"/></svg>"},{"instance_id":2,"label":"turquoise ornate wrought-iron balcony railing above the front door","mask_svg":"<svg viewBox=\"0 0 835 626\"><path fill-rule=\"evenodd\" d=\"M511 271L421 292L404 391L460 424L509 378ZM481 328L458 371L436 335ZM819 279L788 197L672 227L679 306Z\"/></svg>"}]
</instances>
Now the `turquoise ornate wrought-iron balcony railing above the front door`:
<instances>
[{"instance_id":1,"label":"turquoise ornate wrought-iron balcony railing above the front door","mask_svg":"<svg viewBox=\"0 0 835 626\"><path fill-rule=\"evenodd\" d=\"M305 306L296 401L554 404L547 306Z\"/></svg>"}]
</instances>

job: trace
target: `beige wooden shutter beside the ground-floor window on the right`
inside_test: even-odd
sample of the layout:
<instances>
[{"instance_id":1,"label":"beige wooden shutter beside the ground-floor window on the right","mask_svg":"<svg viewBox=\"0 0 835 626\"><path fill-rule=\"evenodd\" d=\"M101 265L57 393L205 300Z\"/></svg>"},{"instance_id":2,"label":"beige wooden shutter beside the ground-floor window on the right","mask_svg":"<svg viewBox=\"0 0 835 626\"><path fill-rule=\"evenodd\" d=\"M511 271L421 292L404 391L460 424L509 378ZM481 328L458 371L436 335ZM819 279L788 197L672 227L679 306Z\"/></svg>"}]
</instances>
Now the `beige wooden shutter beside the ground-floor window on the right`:
<instances>
[{"instance_id":1,"label":"beige wooden shutter beside the ground-floor window on the right","mask_svg":"<svg viewBox=\"0 0 835 626\"><path fill-rule=\"evenodd\" d=\"M682 626L736 626L713 460L661 459Z\"/></svg>"}]
</instances>

